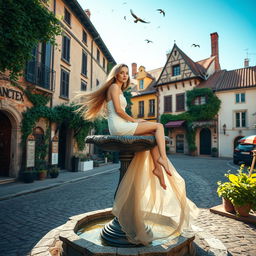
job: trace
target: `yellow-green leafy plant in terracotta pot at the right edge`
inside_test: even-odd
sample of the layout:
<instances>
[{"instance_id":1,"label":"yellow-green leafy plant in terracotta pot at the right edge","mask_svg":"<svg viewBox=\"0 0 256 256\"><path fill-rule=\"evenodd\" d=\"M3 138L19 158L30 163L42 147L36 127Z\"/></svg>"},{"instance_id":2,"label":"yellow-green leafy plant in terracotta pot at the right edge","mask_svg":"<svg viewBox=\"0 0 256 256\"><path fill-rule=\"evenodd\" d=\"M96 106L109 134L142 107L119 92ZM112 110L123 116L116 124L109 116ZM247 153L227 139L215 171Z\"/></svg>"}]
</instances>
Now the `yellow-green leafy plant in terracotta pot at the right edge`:
<instances>
[{"instance_id":1,"label":"yellow-green leafy plant in terracotta pot at the right edge","mask_svg":"<svg viewBox=\"0 0 256 256\"><path fill-rule=\"evenodd\" d=\"M246 173L247 172L247 173ZM234 205L236 213L240 216L249 216L250 210L256 210L256 174L248 175L249 170L245 170L241 165L236 174L228 171L225 176L228 182L218 182L217 192L219 196L229 199Z\"/></svg>"}]
</instances>

